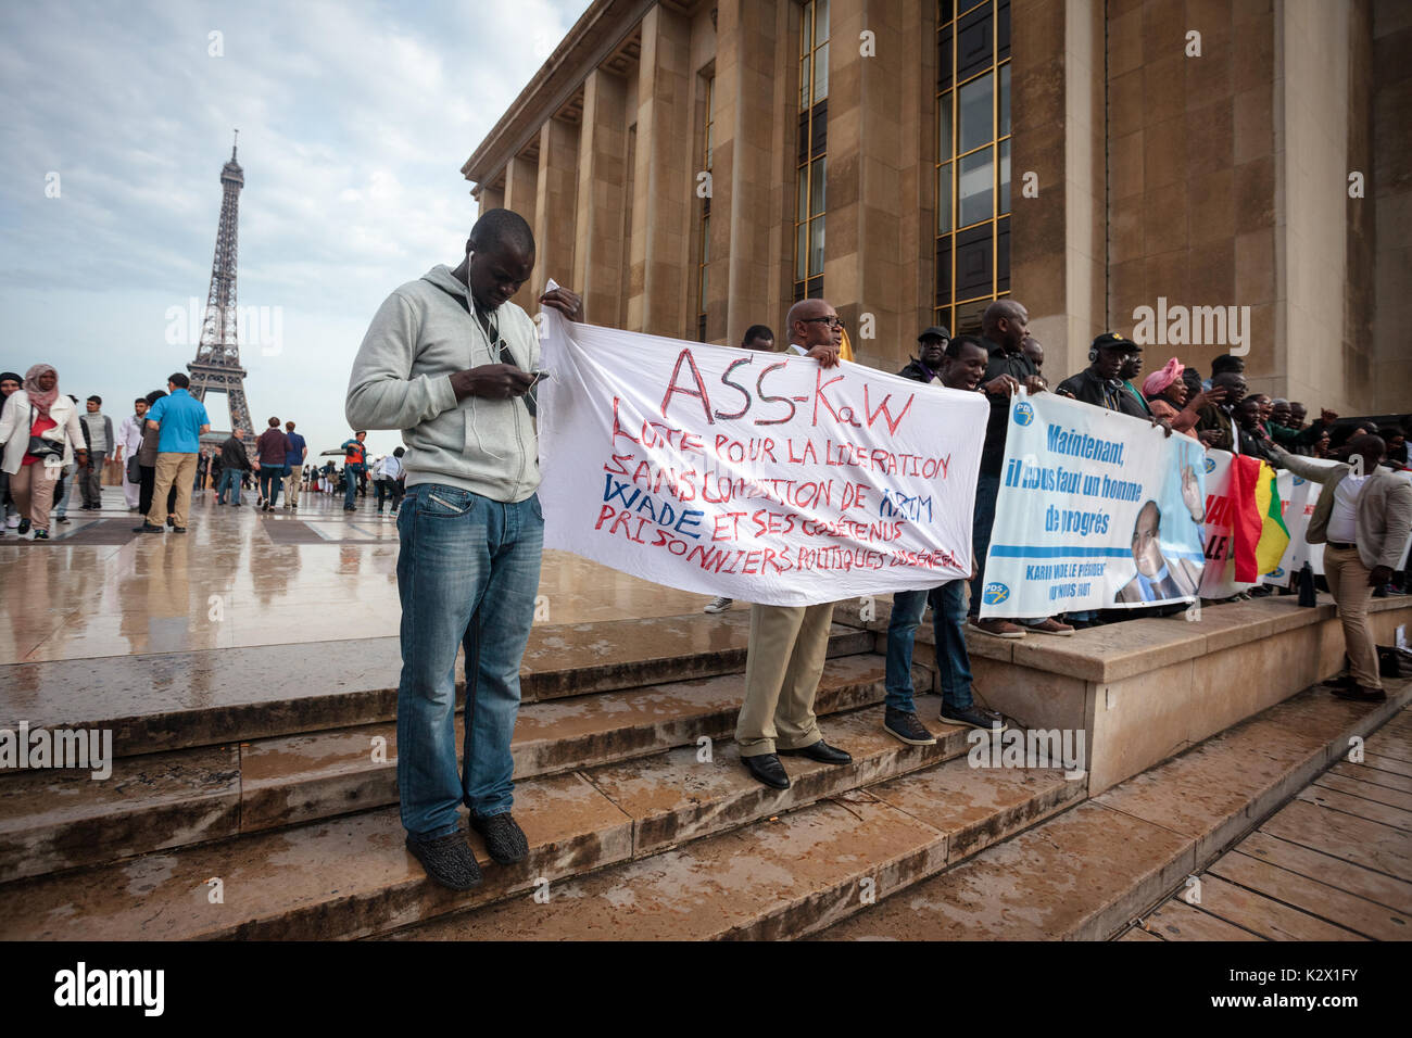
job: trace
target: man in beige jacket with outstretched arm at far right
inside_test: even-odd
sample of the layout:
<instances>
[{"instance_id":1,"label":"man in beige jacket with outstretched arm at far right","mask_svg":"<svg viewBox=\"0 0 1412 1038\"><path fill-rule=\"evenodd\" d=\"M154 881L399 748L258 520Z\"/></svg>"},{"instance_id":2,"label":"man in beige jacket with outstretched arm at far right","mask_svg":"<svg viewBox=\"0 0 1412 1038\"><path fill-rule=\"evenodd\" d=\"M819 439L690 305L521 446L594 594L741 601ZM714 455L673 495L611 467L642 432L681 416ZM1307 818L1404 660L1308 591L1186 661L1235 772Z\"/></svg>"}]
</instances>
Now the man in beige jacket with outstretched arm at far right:
<instances>
[{"instance_id":1,"label":"man in beige jacket with outstretched arm at far right","mask_svg":"<svg viewBox=\"0 0 1412 1038\"><path fill-rule=\"evenodd\" d=\"M1348 675L1334 682L1340 699L1381 703L1378 650L1368 630L1368 599L1392 578L1412 531L1412 483L1378 467L1387 445L1378 436L1348 443L1348 463L1312 465L1268 448L1275 465L1323 483L1305 539L1324 547L1324 579L1339 606Z\"/></svg>"}]
</instances>

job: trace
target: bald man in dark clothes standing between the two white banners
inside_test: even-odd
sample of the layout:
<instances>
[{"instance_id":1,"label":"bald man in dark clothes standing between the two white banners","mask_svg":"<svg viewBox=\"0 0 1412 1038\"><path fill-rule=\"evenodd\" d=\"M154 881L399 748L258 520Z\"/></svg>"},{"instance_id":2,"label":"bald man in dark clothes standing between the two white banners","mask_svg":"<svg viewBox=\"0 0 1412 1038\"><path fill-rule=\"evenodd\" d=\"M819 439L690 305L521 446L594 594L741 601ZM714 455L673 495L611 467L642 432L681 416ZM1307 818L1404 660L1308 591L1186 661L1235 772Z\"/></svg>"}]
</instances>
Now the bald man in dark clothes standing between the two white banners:
<instances>
[{"instance_id":1,"label":"bald man in dark clothes standing between the two white banners","mask_svg":"<svg viewBox=\"0 0 1412 1038\"><path fill-rule=\"evenodd\" d=\"M1048 383L1024 350L1029 336L1029 312L1014 299L995 299L980 319L981 333L990 360L981 378L981 390L990 397L990 419L986 422L986 445L980 453L980 476L976 480L976 514L971 524L970 624L973 631L995 638L1022 638L1027 631L1036 634L1073 634L1073 627L1053 617L1025 620L1014 624L1000 617L980 619L981 590L986 587L986 552L990 551L990 531L995 525L995 500L1000 497L1000 470L1005 465L1005 431L1010 428L1010 398L1025 387L1028 393L1043 393Z\"/></svg>"}]
</instances>

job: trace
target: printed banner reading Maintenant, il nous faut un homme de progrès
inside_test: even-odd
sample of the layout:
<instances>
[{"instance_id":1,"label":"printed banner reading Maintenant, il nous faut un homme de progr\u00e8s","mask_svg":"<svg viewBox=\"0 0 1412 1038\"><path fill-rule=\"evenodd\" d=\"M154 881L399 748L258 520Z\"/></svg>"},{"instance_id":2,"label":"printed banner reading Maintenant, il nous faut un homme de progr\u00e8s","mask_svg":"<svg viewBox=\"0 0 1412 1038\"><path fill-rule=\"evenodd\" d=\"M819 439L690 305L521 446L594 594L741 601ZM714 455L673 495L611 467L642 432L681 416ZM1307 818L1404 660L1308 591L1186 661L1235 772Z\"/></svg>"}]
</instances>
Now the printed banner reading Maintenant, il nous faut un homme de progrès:
<instances>
[{"instance_id":1,"label":"printed banner reading Maintenant, il nous faut un homme de progr\u00e8s","mask_svg":"<svg viewBox=\"0 0 1412 1038\"><path fill-rule=\"evenodd\" d=\"M1190 602L1202 445L1049 393L1010 408L983 617Z\"/></svg>"}]
</instances>

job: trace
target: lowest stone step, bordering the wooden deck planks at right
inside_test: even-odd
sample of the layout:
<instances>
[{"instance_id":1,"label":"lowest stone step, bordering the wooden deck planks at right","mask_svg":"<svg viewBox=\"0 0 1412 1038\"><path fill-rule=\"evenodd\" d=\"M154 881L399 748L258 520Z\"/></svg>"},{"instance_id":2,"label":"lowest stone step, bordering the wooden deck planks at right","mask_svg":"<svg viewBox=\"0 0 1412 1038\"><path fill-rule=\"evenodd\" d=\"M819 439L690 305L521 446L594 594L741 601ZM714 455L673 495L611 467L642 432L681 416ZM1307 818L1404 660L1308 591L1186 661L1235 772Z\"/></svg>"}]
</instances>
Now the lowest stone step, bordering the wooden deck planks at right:
<instances>
[{"instance_id":1,"label":"lowest stone step, bordering the wooden deck planks at right","mask_svg":"<svg viewBox=\"0 0 1412 1038\"><path fill-rule=\"evenodd\" d=\"M1412 700L1412 681L1385 686L1377 705L1306 689L819 939L1111 938L1281 805L1309 808L1291 798Z\"/></svg>"}]
</instances>

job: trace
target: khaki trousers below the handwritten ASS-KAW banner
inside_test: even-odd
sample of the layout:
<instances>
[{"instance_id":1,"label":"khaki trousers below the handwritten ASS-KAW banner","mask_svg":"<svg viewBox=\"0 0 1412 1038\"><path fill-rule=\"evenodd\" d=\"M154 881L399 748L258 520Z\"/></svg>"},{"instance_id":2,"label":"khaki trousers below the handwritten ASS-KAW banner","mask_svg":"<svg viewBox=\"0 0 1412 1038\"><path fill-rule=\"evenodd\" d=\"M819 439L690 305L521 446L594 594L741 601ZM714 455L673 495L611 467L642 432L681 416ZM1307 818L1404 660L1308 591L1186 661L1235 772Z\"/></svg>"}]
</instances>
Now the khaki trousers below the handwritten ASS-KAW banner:
<instances>
[{"instance_id":1,"label":"khaki trousers below the handwritten ASS-KAW banner","mask_svg":"<svg viewBox=\"0 0 1412 1038\"><path fill-rule=\"evenodd\" d=\"M736 720L741 757L818 743L813 696L829 655L833 603L751 606L746 702Z\"/></svg>"}]
</instances>

